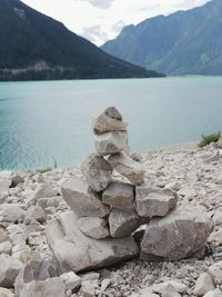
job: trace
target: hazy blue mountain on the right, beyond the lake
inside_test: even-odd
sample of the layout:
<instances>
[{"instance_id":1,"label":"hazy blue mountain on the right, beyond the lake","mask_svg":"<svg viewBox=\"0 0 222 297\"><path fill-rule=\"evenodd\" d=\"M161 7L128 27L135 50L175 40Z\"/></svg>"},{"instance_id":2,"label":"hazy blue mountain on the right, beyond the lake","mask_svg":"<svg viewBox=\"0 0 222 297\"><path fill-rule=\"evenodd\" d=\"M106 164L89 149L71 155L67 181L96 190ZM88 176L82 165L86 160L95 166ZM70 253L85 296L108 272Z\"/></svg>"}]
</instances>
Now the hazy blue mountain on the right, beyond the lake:
<instances>
[{"instance_id":1,"label":"hazy blue mountain on the right, beyond the lake","mask_svg":"<svg viewBox=\"0 0 222 297\"><path fill-rule=\"evenodd\" d=\"M222 0L128 26L102 49L167 75L222 75Z\"/></svg>"}]
</instances>

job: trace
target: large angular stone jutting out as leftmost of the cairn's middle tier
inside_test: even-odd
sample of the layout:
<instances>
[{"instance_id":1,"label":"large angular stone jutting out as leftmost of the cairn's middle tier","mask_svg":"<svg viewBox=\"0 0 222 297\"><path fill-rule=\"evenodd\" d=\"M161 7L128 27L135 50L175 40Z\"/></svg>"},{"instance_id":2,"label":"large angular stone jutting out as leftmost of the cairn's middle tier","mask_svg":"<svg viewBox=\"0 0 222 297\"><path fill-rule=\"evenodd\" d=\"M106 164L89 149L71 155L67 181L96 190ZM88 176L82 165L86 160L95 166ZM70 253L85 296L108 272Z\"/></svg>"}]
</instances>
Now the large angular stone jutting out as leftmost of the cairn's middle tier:
<instances>
[{"instance_id":1,"label":"large angular stone jutting out as leftmost of the cairn's middle tier","mask_svg":"<svg viewBox=\"0 0 222 297\"><path fill-rule=\"evenodd\" d=\"M61 186L62 197L79 217L105 217L110 208L82 178L71 178Z\"/></svg>"}]
</instances>

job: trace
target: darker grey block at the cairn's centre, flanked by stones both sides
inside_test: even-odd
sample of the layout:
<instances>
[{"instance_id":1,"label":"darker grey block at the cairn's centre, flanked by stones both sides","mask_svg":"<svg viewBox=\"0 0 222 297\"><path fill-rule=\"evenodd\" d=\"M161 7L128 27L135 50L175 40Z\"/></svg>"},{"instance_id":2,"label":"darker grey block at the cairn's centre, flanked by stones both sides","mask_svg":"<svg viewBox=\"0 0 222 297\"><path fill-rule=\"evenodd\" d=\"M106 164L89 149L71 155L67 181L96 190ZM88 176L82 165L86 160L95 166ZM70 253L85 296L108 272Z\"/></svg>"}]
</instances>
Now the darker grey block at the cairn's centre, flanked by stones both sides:
<instances>
[{"instance_id":1,"label":"darker grey block at the cairn's centre, flanked by stones both sides","mask_svg":"<svg viewBox=\"0 0 222 297\"><path fill-rule=\"evenodd\" d=\"M102 202L115 208L131 207L134 204L134 186L113 181L102 194Z\"/></svg>"}]
</instances>

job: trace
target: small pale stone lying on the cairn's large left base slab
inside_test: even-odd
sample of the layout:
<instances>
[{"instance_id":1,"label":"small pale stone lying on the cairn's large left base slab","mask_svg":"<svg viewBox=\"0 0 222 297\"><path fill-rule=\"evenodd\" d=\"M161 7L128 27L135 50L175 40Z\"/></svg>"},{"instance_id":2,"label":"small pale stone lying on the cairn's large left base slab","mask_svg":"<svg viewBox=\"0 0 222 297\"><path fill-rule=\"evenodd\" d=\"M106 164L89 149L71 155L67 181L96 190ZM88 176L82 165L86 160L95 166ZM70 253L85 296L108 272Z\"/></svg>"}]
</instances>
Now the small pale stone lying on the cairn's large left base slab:
<instances>
[{"instance_id":1,"label":"small pale stone lying on the cairn's large left base slab","mask_svg":"<svg viewBox=\"0 0 222 297\"><path fill-rule=\"evenodd\" d=\"M82 217L78 220L78 226L84 235L94 239L102 239L110 236L108 222L103 218Z\"/></svg>"}]
</instances>

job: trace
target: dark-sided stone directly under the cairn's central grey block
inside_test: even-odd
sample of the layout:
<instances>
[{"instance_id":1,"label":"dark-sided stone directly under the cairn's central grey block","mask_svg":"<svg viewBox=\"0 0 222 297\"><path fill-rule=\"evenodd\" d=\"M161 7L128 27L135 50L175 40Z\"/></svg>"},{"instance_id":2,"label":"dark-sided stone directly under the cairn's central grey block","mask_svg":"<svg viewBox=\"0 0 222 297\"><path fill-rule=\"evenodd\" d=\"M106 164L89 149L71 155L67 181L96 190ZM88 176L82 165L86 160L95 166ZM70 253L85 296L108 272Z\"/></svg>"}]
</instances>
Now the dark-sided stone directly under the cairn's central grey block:
<instances>
[{"instance_id":1,"label":"dark-sided stone directly under the cairn's central grey block","mask_svg":"<svg viewBox=\"0 0 222 297\"><path fill-rule=\"evenodd\" d=\"M110 235L114 238L130 236L140 225L134 208L113 208L109 216Z\"/></svg>"}]
</instances>

